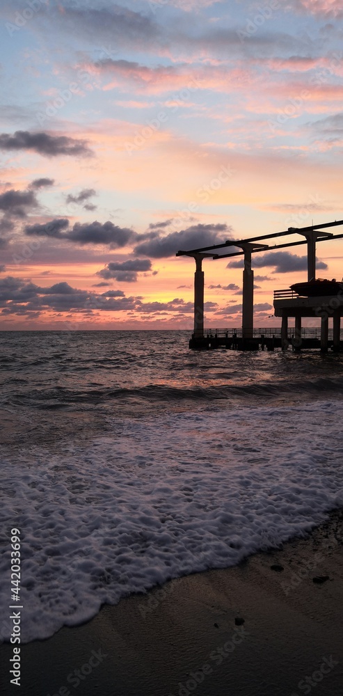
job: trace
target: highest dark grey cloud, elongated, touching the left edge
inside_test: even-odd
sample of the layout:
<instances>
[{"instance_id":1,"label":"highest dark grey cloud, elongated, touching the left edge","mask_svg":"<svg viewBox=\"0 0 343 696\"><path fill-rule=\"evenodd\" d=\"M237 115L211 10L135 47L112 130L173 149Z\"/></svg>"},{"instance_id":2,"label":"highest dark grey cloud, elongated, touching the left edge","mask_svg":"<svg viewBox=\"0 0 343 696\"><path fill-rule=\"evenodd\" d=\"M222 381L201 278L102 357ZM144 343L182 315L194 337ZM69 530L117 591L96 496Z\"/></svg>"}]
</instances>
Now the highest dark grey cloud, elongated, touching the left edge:
<instances>
[{"instance_id":1,"label":"highest dark grey cloud, elongated, touching the left edge","mask_svg":"<svg viewBox=\"0 0 343 696\"><path fill-rule=\"evenodd\" d=\"M38 155L46 157L58 155L89 157L92 154L84 140L29 131L16 131L14 135L0 134L0 150L33 150L38 152Z\"/></svg>"}]
</instances>

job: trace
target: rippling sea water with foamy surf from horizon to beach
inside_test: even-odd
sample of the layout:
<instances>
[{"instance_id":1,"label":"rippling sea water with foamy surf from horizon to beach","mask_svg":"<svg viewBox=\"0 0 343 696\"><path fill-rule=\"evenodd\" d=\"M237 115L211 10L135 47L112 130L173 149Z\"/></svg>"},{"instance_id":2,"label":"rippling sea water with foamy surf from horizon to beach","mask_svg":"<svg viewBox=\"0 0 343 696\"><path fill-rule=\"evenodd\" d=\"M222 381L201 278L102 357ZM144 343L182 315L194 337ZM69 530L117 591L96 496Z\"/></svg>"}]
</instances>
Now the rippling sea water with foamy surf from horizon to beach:
<instances>
[{"instance_id":1,"label":"rippling sea water with foamy surf from horizon to beach","mask_svg":"<svg viewBox=\"0 0 343 696\"><path fill-rule=\"evenodd\" d=\"M0 612L15 527L23 642L306 535L343 505L343 355L188 340L0 333Z\"/></svg>"}]
</instances>

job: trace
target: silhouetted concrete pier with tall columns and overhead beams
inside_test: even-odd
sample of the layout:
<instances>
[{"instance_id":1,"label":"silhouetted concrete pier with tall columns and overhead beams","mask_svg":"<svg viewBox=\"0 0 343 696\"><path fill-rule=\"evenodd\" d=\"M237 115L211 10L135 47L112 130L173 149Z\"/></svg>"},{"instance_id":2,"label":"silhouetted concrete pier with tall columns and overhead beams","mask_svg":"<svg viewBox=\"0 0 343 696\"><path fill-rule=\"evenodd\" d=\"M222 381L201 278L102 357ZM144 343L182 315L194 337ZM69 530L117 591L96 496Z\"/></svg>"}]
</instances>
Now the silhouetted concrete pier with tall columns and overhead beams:
<instances>
[{"instance_id":1,"label":"silhouetted concrete pier with tall columns and overhead beams","mask_svg":"<svg viewBox=\"0 0 343 696\"><path fill-rule=\"evenodd\" d=\"M288 228L282 232L273 232L270 235L252 237L250 239L228 240L223 244L207 246L190 251L178 251L177 256L190 256L196 262L196 272L194 276L194 330L189 341L191 349L209 349L224 347L237 350L258 350L275 348L287 349L292 345L294 350L301 348L318 348L322 352L333 349L341 351L343 349L340 340L341 317L343 315L343 292L332 296L303 297L296 294L289 288L286 290L275 290L273 298L274 316L282 320L280 329L254 329L253 325L253 286L254 271L252 269L252 258L254 253L261 251L275 251L280 248L290 248L292 246L307 246L308 258L308 281L316 278L316 246L318 242L330 241L332 239L342 239L343 235L333 235L328 232L328 228L343 225L343 221L323 223L322 225L312 225L304 228ZM289 237L299 235L303 237L296 242L285 244L275 244L269 246L265 243L266 239L278 237ZM240 251L230 253L217 253L216 250L225 248L237 248ZM221 329L214 333L204 329L204 295L205 295L205 274L202 270L202 261L207 258L212 260L227 259L242 255L244 257L243 270L243 304L242 304L242 325L241 329ZM305 335L302 318L313 317L320 319L320 335L317 338L312 335ZM289 318L294 318L295 327L289 331ZM333 338L329 340L329 319L333 322ZM257 331L257 333L256 333ZM272 332L272 333L270 333Z\"/></svg>"}]
</instances>

